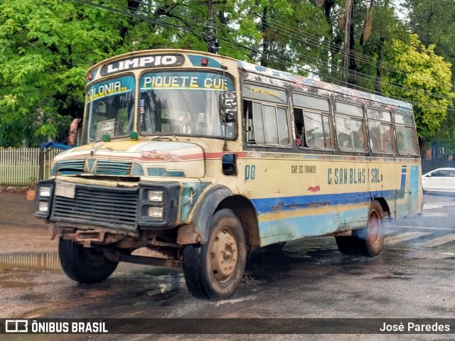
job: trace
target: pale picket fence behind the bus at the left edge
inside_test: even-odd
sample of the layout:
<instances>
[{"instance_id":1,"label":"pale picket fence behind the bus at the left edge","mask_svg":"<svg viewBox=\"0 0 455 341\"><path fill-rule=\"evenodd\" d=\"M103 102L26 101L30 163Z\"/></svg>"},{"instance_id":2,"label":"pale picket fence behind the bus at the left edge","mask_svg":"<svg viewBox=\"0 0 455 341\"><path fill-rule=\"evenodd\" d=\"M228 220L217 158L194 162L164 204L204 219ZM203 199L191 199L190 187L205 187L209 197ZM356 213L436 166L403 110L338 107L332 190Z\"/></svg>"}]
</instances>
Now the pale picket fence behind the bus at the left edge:
<instances>
[{"instance_id":1,"label":"pale picket fence behind the bus at the left edge","mask_svg":"<svg viewBox=\"0 0 455 341\"><path fill-rule=\"evenodd\" d=\"M40 178L48 178L50 161L61 152L55 148L42 151L40 176L40 148L0 149L0 185L31 186Z\"/></svg>"}]
</instances>

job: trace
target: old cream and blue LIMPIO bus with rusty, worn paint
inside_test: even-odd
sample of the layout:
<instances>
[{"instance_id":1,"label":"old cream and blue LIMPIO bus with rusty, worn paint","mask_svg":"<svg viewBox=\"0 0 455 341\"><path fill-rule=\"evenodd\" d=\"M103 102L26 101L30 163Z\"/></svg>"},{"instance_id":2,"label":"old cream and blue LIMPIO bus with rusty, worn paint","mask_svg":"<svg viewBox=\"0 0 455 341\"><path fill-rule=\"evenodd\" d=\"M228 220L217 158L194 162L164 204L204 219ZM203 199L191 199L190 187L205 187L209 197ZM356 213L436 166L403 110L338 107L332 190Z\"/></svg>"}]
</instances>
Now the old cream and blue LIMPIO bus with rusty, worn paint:
<instances>
[{"instance_id":1,"label":"old cream and blue LIMPIO bus with rusty, worn paint","mask_svg":"<svg viewBox=\"0 0 455 341\"><path fill-rule=\"evenodd\" d=\"M35 205L80 283L178 266L193 296L224 299L259 247L331 236L377 256L385 222L422 206L410 104L221 55L103 60L81 125Z\"/></svg>"}]
</instances>

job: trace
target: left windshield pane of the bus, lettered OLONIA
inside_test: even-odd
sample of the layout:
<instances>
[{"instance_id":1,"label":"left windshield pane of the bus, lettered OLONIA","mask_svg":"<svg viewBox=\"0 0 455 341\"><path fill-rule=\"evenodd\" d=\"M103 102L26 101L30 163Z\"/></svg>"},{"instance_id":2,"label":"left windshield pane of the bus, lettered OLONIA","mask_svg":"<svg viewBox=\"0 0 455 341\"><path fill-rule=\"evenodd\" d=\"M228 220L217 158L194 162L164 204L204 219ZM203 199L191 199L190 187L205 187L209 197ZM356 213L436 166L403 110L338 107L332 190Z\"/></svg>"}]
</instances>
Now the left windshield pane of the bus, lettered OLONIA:
<instances>
[{"instance_id":1,"label":"left windshield pane of the bus, lettered OLONIA","mask_svg":"<svg viewBox=\"0 0 455 341\"><path fill-rule=\"evenodd\" d=\"M88 142L127 136L134 122L134 77L117 77L87 88Z\"/></svg>"}]
</instances>

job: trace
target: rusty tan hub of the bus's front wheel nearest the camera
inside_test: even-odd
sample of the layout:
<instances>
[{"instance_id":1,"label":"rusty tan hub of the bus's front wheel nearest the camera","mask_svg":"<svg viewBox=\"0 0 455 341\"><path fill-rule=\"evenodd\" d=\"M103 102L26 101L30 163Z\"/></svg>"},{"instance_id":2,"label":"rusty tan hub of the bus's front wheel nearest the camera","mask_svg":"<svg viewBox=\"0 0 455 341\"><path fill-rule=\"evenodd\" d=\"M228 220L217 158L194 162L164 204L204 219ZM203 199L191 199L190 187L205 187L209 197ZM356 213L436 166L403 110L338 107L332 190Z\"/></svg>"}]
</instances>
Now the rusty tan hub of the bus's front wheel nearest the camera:
<instances>
[{"instance_id":1,"label":"rusty tan hub of the bus's front wheel nearest the camera","mask_svg":"<svg viewBox=\"0 0 455 341\"><path fill-rule=\"evenodd\" d=\"M213 275L217 281L228 280L237 265L237 242L225 229L221 229L213 240L211 251L211 265Z\"/></svg>"}]
</instances>

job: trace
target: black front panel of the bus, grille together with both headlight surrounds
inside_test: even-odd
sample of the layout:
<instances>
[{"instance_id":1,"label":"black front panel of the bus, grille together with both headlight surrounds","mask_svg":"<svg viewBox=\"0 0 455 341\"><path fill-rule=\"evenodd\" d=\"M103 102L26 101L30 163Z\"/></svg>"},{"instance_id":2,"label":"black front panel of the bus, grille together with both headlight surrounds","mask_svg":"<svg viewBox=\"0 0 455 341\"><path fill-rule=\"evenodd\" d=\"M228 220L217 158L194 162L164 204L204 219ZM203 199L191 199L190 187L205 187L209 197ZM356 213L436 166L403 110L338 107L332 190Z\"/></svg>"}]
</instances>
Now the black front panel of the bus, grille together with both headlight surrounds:
<instances>
[{"instance_id":1,"label":"black front panel of the bus, grille together with both headlight surrounds","mask_svg":"<svg viewBox=\"0 0 455 341\"><path fill-rule=\"evenodd\" d=\"M66 189L56 190L58 186ZM40 188L50 188L50 195L42 196L45 191ZM35 215L80 229L104 227L133 233L139 229L168 229L177 223L180 188L176 182L141 181L137 187L124 188L43 180L36 190ZM149 190L162 191L162 202L150 202ZM163 216L149 217L149 207L161 207Z\"/></svg>"}]
</instances>

